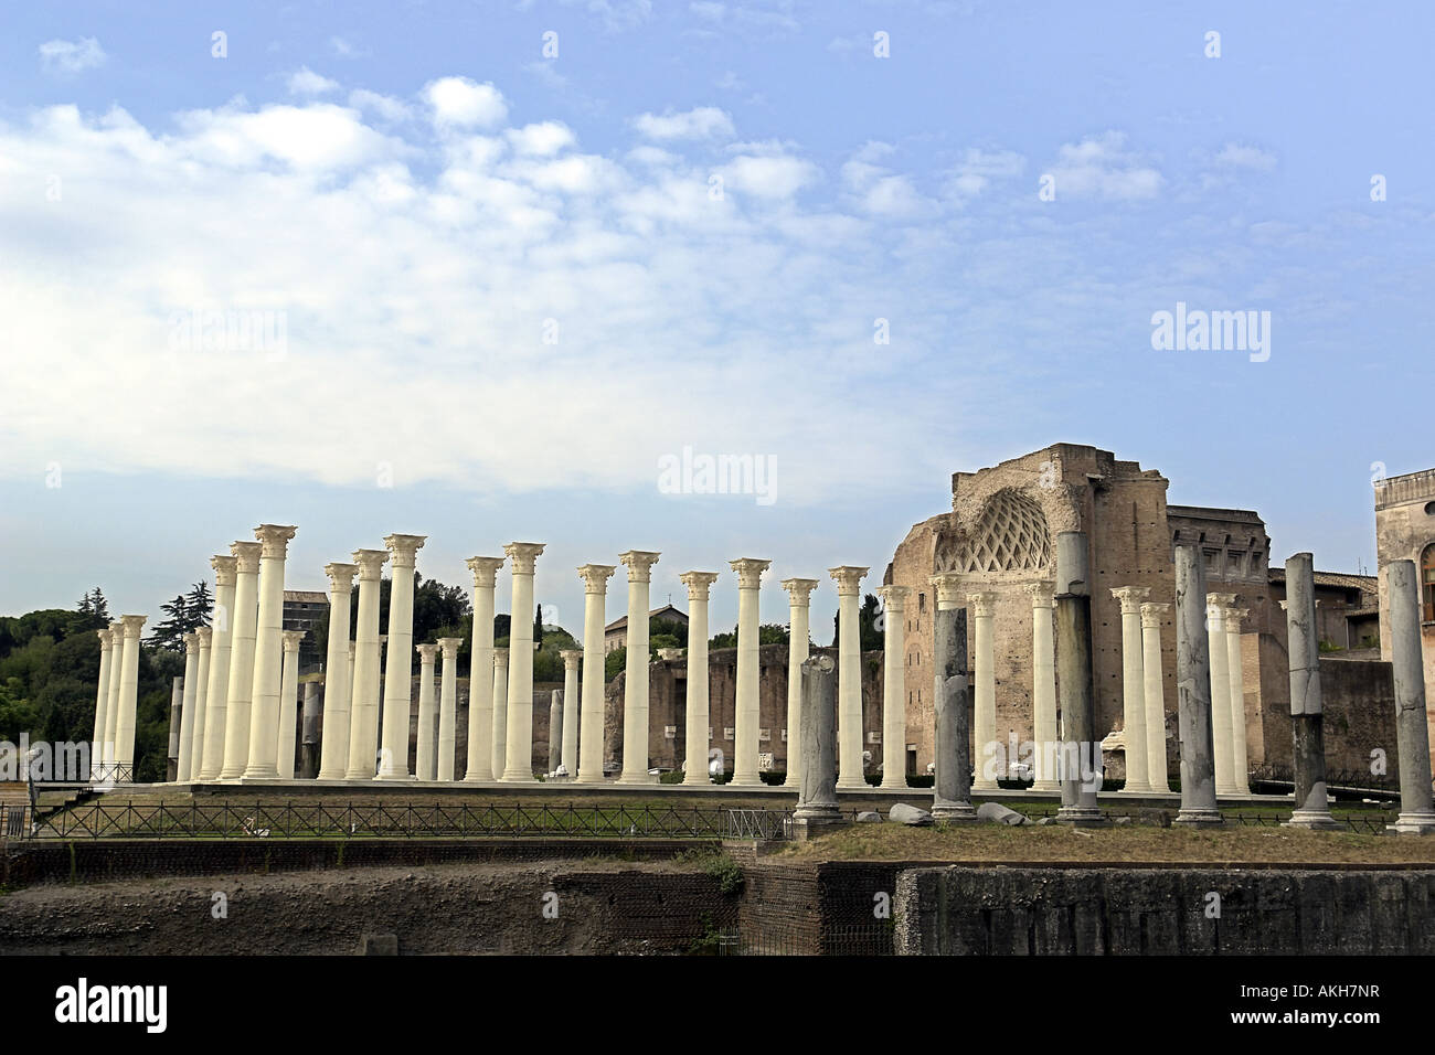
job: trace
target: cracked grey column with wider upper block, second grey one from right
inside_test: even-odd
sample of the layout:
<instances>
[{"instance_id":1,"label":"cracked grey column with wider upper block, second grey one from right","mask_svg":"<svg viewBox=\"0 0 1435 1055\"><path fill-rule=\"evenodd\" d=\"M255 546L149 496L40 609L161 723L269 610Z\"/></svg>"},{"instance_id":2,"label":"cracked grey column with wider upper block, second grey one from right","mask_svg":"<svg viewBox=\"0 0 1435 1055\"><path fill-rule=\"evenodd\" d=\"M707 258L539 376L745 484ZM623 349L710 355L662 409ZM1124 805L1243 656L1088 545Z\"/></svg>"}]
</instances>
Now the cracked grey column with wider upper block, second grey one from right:
<instances>
[{"instance_id":1,"label":"cracked grey column with wider upper block, second grey one from right","mask_svg":"<svg viewBox=\"0 0 1435 1055\"><path fill-rule=\"evenodd\" d=\"M1316 624L1316 561L1312 554L1297 553L1286 560L1283 604L1296 771L1296 810L1286 824L1292 828L1343 828L1330 815L1326 798L1325 702L1320 693L1320 630Z\"/></svg>"}]
</instances>

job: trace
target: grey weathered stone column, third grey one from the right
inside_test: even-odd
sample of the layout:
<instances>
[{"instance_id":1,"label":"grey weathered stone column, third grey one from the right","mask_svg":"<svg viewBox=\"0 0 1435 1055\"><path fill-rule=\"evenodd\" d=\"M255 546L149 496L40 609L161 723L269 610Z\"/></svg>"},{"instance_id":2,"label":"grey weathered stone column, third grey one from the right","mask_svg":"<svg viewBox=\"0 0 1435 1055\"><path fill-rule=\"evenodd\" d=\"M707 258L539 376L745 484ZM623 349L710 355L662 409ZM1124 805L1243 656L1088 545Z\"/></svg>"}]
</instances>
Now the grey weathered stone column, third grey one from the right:
<instances>
[{"instance_id":1,"label":"grey weathered stone column, third grey one from the right","mask_svg":"<svg viewBox=\"0 0 1435 1055\"><path fill-rule=\"evenodd\" d=\"M1215 807L1211 660L1205 566L1194 545L1175 547L1175 692L1181 731L1181 811L1174 824L1224 824Z\"/></svg>"}]
</instances>

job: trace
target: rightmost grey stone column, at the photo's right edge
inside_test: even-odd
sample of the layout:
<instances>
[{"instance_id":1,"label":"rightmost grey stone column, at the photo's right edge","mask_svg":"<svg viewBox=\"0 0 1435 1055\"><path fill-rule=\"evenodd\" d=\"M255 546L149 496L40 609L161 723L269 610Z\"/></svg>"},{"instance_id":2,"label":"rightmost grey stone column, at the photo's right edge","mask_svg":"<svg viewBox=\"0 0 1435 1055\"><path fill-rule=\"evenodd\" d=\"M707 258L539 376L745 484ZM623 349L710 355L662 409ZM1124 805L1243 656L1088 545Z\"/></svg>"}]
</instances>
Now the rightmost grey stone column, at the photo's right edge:
<instances>
[{"instance_id":1,"label":"rightmost grey stone column, at the photo's right edge","mask_svg":"<svg viewBox=\"0 0 1435 1055\"><path fill-rule=\"evenodd\" d=\"M1289 573L1287 573L1289 576ZM1391 609L1391 666L1395 673L1395 751L1401 772L1401 814L1386 827L1401 835L1435 833L1431 802L1429 722L1421 656L1421 587L1415 561L1385 566Z\"/></svg>"}]
</instances>

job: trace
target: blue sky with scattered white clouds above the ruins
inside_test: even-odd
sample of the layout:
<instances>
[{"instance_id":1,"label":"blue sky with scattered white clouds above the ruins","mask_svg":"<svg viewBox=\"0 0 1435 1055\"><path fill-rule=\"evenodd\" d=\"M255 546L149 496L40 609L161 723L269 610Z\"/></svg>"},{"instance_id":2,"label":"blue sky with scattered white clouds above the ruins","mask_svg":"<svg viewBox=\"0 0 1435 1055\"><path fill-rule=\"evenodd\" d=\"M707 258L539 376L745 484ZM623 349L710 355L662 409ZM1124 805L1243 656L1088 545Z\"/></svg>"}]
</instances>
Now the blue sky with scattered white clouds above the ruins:
<instances>
[{"instance_id":1,"label":"blue sky with scattered white clouds above the ruins","mask_svg":"<svg viewBox=\"0 0 1435 1055\"><path fill-rule=\"evenodd\" d=\"M0 611L154 616L290 522L298 589L517 538L573 630L627 548L654 603L723 571L715 627L732 558L765 620L818 577L821 627L827 567L878 584L951 471L1062 441L1373 567L1372 475L1435 464L1435 14L1091 7L7 7ZM1152 349L1178 301L1270 357ZM773 501L664 494L684 446Z\"/></svg>"}]
</instances>

